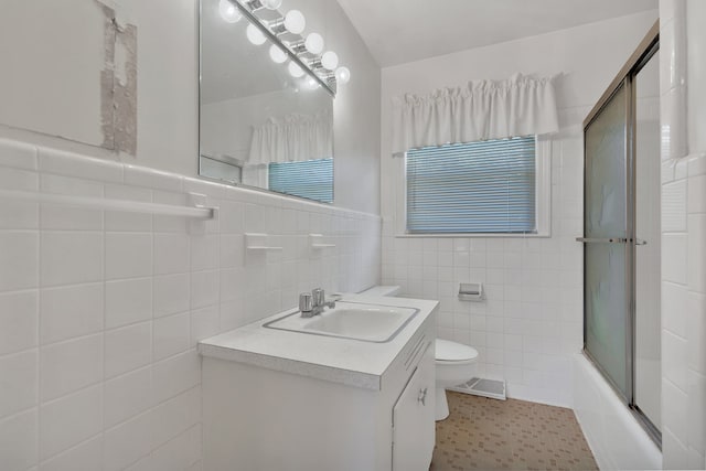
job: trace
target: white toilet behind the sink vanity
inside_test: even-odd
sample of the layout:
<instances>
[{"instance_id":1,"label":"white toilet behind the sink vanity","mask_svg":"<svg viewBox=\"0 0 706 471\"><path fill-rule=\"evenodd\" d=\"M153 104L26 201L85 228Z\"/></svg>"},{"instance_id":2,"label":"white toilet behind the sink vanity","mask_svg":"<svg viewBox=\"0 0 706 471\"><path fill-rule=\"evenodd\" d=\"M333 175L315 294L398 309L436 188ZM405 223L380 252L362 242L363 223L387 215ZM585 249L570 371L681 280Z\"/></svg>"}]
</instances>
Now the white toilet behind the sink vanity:
<instances>
[{"instance_id":1,"label":"white toilet behind the sink vanity","mask_svg":"<svg viewBox=\"0 0 706 471\"><path fill-rule=\"evenodd\" d=\"M362 291L365 296L396 296L398 286L376 286ZM436 340L436 419L449 417L449 404L446 400L446 388L466 383L475 376L478 350L462 343L448 340Z\"/></svg>"}]
</instances>

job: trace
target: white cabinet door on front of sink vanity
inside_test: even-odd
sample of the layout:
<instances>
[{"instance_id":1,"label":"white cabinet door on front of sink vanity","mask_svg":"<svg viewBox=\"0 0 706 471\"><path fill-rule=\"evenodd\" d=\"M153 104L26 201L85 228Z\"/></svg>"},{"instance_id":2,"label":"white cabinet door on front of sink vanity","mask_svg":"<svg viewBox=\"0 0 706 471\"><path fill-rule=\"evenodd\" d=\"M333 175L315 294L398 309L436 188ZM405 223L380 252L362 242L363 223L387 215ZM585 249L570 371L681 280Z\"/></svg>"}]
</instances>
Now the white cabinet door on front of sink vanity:
<instances>
[{"instance_id":1,"label":"white cabinet door on front of sink vanity","mask_svg":"<svg viewBox=\"0 0 706 471\"><path fill-rule=\"evenodd\" d=\"M393 409L394 471L427 471L431 463L436 426L435 358L430 344Z\"/></svg>"}]
</instances>

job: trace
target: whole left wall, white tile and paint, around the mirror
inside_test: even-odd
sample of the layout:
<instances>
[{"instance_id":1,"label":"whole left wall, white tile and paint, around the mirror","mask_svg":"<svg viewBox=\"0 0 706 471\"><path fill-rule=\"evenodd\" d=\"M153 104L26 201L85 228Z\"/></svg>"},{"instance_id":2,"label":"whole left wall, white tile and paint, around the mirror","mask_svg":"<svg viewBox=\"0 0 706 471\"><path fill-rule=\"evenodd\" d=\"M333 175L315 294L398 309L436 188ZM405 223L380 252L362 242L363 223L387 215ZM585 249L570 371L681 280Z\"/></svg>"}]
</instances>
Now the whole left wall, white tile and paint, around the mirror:
<instances>
[{"instance_id":1,"label":"whole left wall, white tile and paint, around the mirror","mask_svg":"<svg viewBox=\"0 0 706 471\"><path fill-rule=\"evenodd\" d=\"M183 220L0 202L0 469L200 469L196 342L293 307L314 286L379 282L382 229L368 214L379 200L379 68L325 2L325 36L353 74L334 105L340 207L226 188L189 178L199 153L196 2L106 1L138 28L136 157L100 147L99 96L78 84L98 81L105 57L55 41L63 30L41 14L49 2L31 0L40 14L0 21L3 38L18 39L0 46L3 64L35 47L51 52L33 63L39 71L24 69L40 76L3 71L2 93L31 97L35 79L58 89L36 94L51 98L39 110L3 99L14 108L0 113L0 137L12 139L0 139L0 190L178 205L194 191L221 206L221 220L193 235ZM72 38L103 47L101 30L82 24L105 20L82 14L94 8L62 2L62 19ZM28 39L19 32L30 23L36 34ZM74 107L54 106L62 100ZM246 231L271 234L284 250L246 253ZM311 232L335 249L308 250Z\"/></svg>"}]
</instances>

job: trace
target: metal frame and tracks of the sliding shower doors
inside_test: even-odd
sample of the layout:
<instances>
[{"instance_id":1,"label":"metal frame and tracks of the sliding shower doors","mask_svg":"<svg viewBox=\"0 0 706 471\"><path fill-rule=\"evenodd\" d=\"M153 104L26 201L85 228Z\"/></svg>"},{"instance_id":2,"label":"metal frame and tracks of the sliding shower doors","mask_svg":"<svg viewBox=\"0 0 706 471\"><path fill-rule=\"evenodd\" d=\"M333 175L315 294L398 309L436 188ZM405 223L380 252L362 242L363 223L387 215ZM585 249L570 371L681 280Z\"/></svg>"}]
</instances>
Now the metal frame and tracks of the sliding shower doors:
<instances>
[{"instance_id":1,"label":"metal frame and tracks of the sliding shower doors","mask_svg":"<svg viewBox=\"0 0 706 471\"><path fill-rule=\"evenodd\" d=\"M644 65L657 54L660 49L660 20L650 29L644 39L640 42L638 49L632 53L628 62L622 66L616 78L611 82L610 86L606 89L600 97L596 106L588 114L584 120L584 136L588 127L595 121L595 119L601 114L606 105L611 98L620 90L621 87L625 89L625 240L609 239L606 243L622 243L625 246L625 279L624 288L627 293L625 302L625 378L627 378L627 394L623 394L620 387L613 382L607 371L600 365L600 363L593 358L590 352L586 347L586 332L587 332L587 312L586 312L586 299L584 299L584 355L593 364L593 366L600 372L601 376L608 382L611 388L620 397L623 404L638 419L640 426L648 432L650 438L662 449L662 432L657 429L648 416L635 404L635 307L637 307L637 283L635 283L635 263L637 253L635 248L639 245L635 235L635 210L637 210L637 186L635 186L635 139L637 139L637 94L635 94L635 77L638 73L644 67ZM587 199L587 178L586 171L586 139L584 139L584 214L588 211ZM584 297L586 297L586 239L584 237L577 238L579 242L584 242Z\"/></svg>"}]
</instances>

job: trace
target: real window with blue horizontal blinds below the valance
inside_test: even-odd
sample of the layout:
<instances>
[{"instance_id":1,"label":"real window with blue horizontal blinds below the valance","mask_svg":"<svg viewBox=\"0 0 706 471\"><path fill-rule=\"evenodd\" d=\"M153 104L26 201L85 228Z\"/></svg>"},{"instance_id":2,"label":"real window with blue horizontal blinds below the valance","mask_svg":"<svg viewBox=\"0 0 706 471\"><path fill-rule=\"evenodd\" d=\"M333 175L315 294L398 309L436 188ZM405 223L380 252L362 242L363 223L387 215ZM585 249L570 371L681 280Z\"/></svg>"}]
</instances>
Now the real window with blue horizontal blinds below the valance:
<instances>
[{"instance_id":1,"label":"real window with blue horizontal blinds below the valance","mask_svg":"<svg viewBox=\"0 0 706 471\"><path fill-rule=\"evenodd\" d=\"M550 182L537 148L528 136L409 150L405 233L545 233Z\"/></svg>"}]
</instances>

